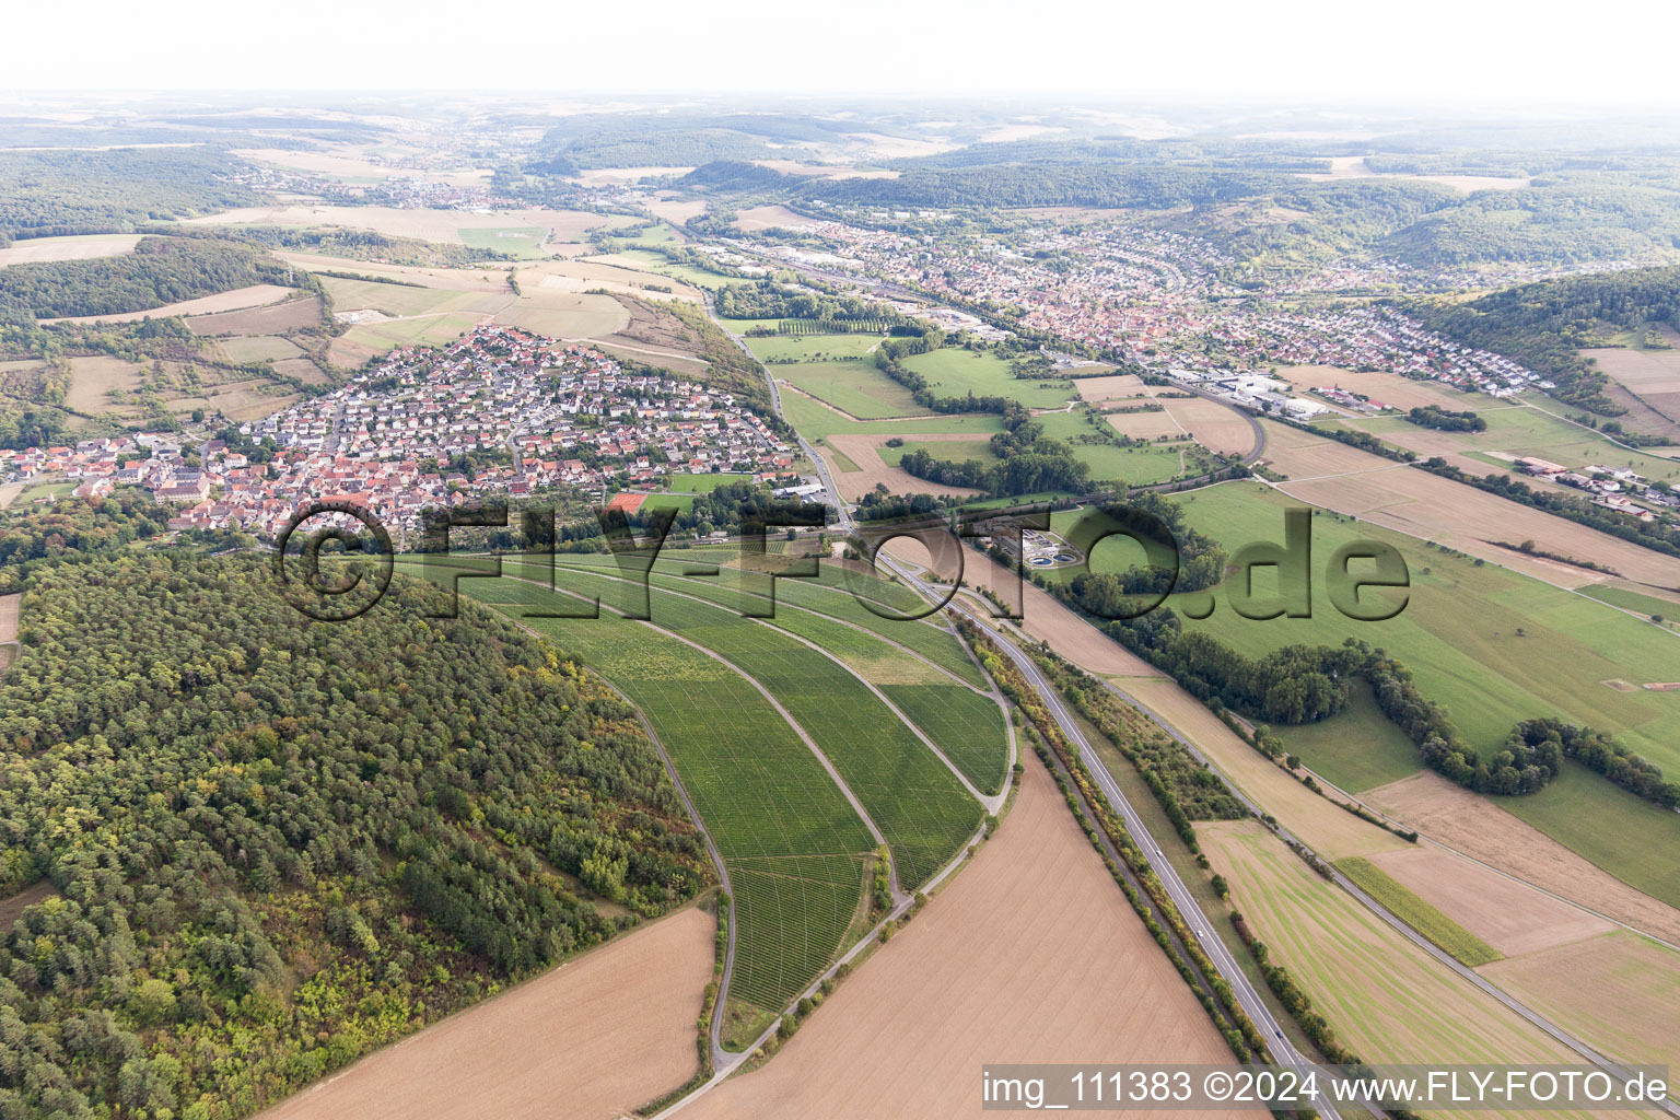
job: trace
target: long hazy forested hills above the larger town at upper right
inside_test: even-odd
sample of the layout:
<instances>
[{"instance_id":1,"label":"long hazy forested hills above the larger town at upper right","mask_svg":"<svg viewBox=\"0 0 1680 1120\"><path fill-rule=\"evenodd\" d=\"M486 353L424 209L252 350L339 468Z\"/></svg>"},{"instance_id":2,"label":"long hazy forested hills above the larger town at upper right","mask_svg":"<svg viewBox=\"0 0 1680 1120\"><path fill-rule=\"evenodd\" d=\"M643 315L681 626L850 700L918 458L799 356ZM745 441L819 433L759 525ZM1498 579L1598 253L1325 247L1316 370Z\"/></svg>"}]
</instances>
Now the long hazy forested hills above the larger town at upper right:
<instances>
[{"instance_id":1,"label":"long hazy forested hills above the larger town at upper right","mask_svg":"<svg viewBox=\"0 0 1680 1120\"><path fill-rule=\"evenodd\" d=\"M1124 144L1131 149L1139 141ZM1033 149L1033 143L1025 146ZM1680 257L1680 190L1616 173L1559 173L1524 190L1462 193L1408 178L1307 181L1258 156L1006 163L1006 144L900 161L894 180L736 175L739 191L781 190L806 201L877 207L1116 207L1218 243L1243 265L1292 269L1349 254L1418 267L1537 260L1561 265ZM1114 144L1099 144L1104 151ZM961 158L959 158L961 156ZM990 158L990 163L974 160ZM1277 158L1270 166L1309 160ZM763 171L763 168L758 168Z\"/></svg>"}]
</instances>

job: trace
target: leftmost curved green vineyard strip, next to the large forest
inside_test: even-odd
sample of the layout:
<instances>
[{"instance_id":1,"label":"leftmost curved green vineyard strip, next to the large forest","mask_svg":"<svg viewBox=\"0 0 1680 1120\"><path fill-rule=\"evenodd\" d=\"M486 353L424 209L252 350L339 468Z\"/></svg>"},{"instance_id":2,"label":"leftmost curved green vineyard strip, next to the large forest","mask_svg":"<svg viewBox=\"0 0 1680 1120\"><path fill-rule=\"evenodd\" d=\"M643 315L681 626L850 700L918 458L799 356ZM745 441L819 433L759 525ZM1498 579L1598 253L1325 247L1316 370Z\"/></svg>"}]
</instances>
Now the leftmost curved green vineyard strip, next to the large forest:
<instances>
[{"instance_id":1,"label":"leftmost curved green vineyard strip, next to the large forest","mask_svg":"<svg viewBox=\"0 0 1680 1120\"><path fill-rule=\"evenodd\" d=\"M479 584L472 591L477 591L474 598L486 599L504 613L511 613L509 606L543 601L539 593L526 588ZM512 598L501 601L501 593L511 593ZM573 626L568 633L556 621L563 620L541 620L539 626L563 646L588 650L585 655L590 660L622 675L627 692L640 695L638 705L648 719L665 725L664 741L682 759L679 766L689 771L690 789L702 814L701 826L717 840L732 868L739 940L734 989L741 997L771 1011L786 1006L833 959L850 927L862 898L869 858L865 841L879 843L879 836L869 835L875 831L874 826L857 813L855 801L850 808L845 804L843 786L830 784L835 782L832 771L816 777L808 769L811 744L795 724L786 722L783 735L771 730L774 700L763 697L771 705L766 709L743 693L741 683L726 670L732 670L746 683L756 682L729 667L724 658L697 648L690 653L690 643L655 626L652 630L660 641L675 640L680 648L659 650L657 663L648 663L647 668L664 672L643 673L635 665L615 663L613 653L622 652L622 643L595 650L596 643L590 640L586 626ZM690 658L687 673L682 672L684 657ZM706 680L699 693L689 687L690 678L696 678L692 658L699 658L699 678ZM724 668L704 668L714 662ZM707 719L684 719L694 712L707 712ZM731 719L739 720L739 727L731 727ZM719 727L729 727L732 734L719 735ZM716 747L749 735L756 747L751 754L724 747L717 756ZM781 757L774 757L776 754ZM820 754L815 757L818 764L823 762ZM771 761L778 774L771 774L766 764ZM800 774L801 769L806 772ZM822 798L816 791L823 788L832 794L827 806L818 804ZM800 813L810 819L790 819L798 811L796 801L813 806ZM759 826L766 813L774 816L780 828ZM818 823L823 813L828 814L827 824ZM857 830L853 836L842 835L852 828ZM848 845L853 846L847 850Z\"/></svg>"}]
</instances>

